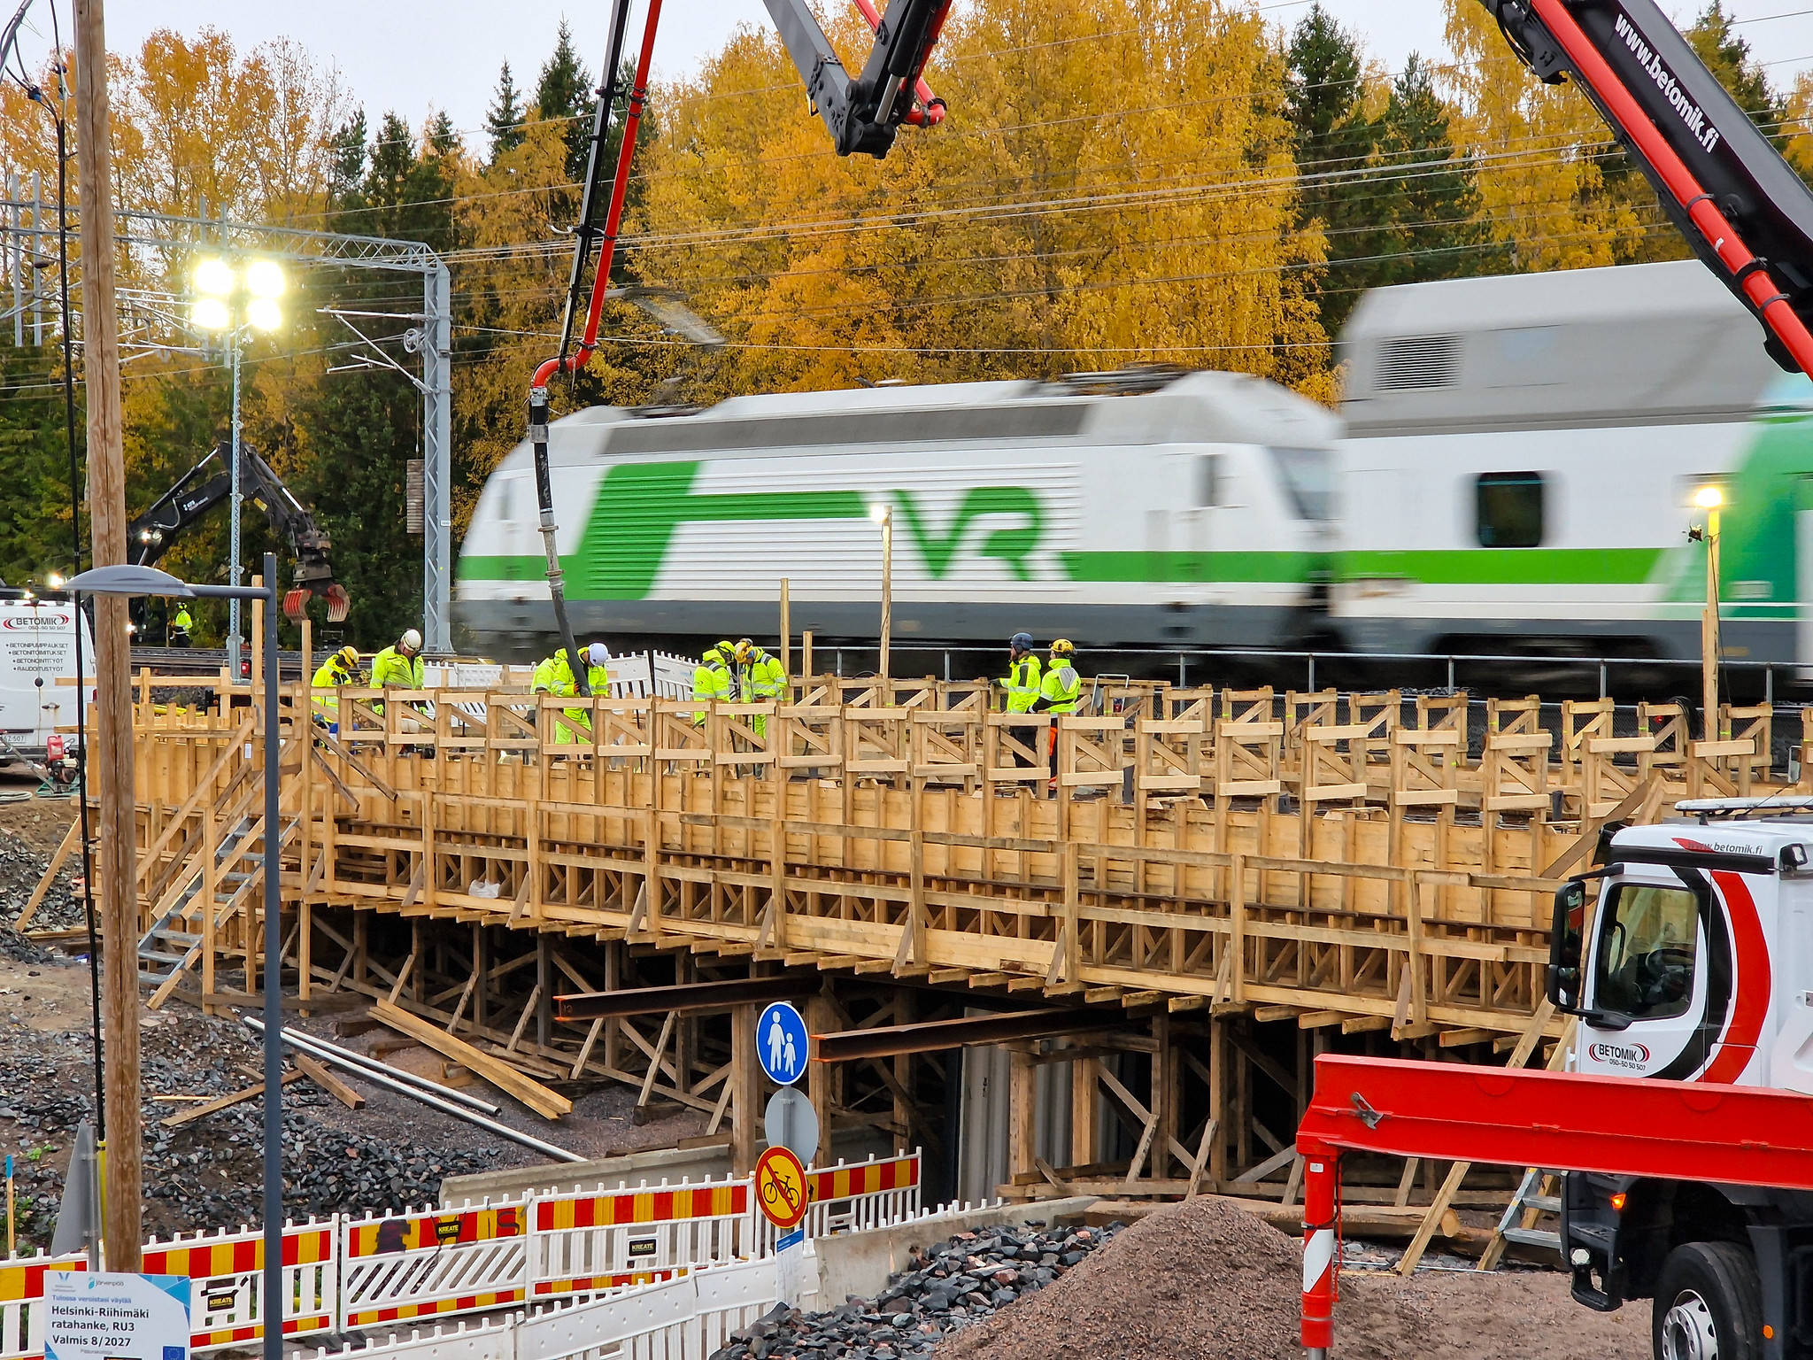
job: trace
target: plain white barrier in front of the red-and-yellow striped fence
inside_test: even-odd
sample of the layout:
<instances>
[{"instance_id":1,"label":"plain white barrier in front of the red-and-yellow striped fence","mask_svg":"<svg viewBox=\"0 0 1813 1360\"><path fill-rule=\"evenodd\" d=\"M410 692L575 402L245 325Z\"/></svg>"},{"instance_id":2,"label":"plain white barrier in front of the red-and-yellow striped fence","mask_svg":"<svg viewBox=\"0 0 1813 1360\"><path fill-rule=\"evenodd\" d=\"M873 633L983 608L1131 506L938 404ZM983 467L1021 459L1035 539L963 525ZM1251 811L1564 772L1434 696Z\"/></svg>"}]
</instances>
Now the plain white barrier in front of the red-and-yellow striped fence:
<instances>
[{"instance_id":1,"label":"plain white barrier in front of the red-and-yellow striped fence","mask_svg":"<svg viewBox=\"0 0 1813 1360\"><path fill-rule=\"evenodd\" d=\"M480 1326L457 1324L315 1360L703 1360L780 1297L774 1258L711 1266Z\"/></svg>"}]
</instances>

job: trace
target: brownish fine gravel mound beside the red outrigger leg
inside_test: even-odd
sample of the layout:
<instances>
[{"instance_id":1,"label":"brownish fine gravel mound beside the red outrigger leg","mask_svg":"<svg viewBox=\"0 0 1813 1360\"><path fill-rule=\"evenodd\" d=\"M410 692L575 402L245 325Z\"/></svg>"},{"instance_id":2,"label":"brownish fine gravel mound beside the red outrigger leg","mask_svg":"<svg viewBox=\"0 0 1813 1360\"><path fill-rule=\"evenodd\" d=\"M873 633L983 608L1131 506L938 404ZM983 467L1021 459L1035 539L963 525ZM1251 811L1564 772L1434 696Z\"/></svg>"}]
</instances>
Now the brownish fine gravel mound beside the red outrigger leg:
<instances>
[{"instance_id":1,"label":"brownish fine gravel mound beside the red outrigger leg","mask_svg":"<svg viewBox=\"0 0 1813 1360\"><path fill-rule=\"evenodd\" d=\"M1217 1199L1171 1204L937 1360L1298 1360L1296 1242Z\"/></svg>"}]
</instances>

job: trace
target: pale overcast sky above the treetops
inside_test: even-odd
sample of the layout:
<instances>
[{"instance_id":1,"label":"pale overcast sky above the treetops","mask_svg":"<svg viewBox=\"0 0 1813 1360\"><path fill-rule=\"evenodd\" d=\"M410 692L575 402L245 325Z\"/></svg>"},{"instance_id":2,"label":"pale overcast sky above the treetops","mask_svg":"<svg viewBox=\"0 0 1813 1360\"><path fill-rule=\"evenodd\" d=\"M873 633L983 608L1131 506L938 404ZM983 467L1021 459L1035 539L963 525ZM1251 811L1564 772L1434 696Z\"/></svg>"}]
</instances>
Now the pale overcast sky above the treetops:
<instances>
[{"instance_id":1,"label":"pale overcast sky above the treetops","mask_svg":"<svg viewBox=\"0 0 1813 1360\"><path fill-rule=\"evenodd\" d=\"M49 47L53 0L36 0L24 34L27 54ZM69 0L56 0L67 33ZM1440 54L1440 0L1323 0L1343 24L1362 33L1367 47L1401 67L1412 51ZM1728 13L1746 20L1740 29L1757 56L1769 63L1779 85L1813 65L1813 0L1726 0ZM11 4L0 0L0 7ZM1294 24L1309 0L1264 0L1262 11ZM1701 0L1663 0L1677 20L1692 20ZM640 5L638 5L640 11ZM607 0L114 0L107 5L107 45L136 51L145 34L174 27L192 34L201 27L227 29L241 47L268 38L296 38L317 58L339 67L341 78L375 120L395 109L421 127L431 109L444 109L453 125L475 131L509 62L517 85L533 85L535 73L555 42L562 15L589 69L596 71L609 16ZM1771 18L1780 15L1782 18ZM767 24L761 0L667 0L665 27L656 40L660 74L684 74L716 49L738 24ZM635 18L640 25L640 13ZM1106 80L1113 73L1104 73ZM961 111L952 111L961 116ZM473 140L470 145L482 149Z\"/></svg>"}]
</instances>

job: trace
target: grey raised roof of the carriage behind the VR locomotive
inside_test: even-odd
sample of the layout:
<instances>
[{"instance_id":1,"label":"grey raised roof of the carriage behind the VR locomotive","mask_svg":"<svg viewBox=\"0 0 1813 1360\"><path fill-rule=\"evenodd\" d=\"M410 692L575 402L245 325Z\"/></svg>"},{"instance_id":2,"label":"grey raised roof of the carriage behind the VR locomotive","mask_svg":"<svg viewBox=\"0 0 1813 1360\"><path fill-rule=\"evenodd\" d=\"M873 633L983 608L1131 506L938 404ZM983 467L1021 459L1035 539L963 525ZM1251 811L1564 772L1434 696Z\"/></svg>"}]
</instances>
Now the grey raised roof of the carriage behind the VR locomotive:
<instances>
[{"instance_id":1,"label":"grey raised roof of the carriage behind the VR locomotive","mask_svg":"<svg viewBox=\"0 0 1813 1360\"><path fill-rule=\"evenodd\" d=\"M1338 354L1354 437L1744 419L1780 368L1697 259L1376 288Z\"/></svg>"}]
</instances>

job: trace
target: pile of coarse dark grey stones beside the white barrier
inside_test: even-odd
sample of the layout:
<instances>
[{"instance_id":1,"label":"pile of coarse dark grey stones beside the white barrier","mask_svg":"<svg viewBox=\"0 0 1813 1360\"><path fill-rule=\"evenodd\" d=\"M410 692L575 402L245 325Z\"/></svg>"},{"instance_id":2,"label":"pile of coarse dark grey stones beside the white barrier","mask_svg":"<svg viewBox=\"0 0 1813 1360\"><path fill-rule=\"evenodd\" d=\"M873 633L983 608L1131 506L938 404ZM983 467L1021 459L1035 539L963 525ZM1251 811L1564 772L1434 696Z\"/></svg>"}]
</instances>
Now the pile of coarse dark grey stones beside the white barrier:
<instances>
[{"instance_id":1,"label":"pile of coarse dark grey stones beside the white barrier","mask_svg":"<svg viewBox=\"0 0 1813 1360\"><path fill-rule=\"evenodd\" d=\"M990 1228L957 1233L943 1246L914 1251L914 1269L892 1278L874 1300L850 1298L829 1313L800 1313L785 1304L769 1311L713 1360L892 1360L925 1355L937 1342L994 1316L1019 1298L1055 1282L1108 1242L1111 1228L1039 1231Z\"/></svg>"}]
</instances>

